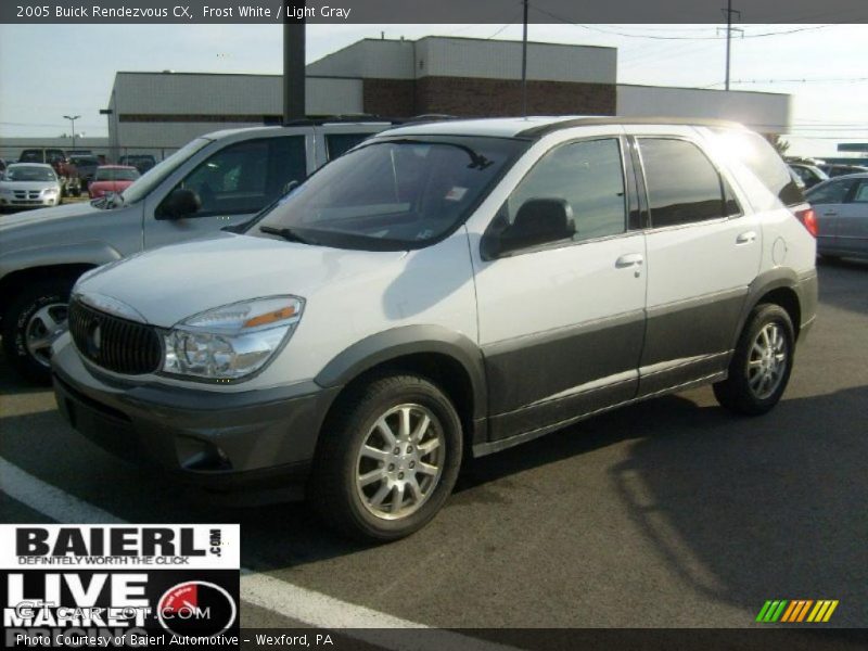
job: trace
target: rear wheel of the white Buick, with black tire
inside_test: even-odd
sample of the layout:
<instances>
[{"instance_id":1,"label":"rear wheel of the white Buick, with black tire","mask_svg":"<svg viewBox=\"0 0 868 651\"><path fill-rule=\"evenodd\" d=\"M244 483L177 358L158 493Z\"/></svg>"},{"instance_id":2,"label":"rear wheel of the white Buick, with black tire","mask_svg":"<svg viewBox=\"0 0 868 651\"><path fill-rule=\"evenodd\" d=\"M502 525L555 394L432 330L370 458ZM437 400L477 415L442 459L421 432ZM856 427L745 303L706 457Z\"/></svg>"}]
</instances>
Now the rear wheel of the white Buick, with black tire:
<instances>
[{"instance_id":1,"label":"rear wheel of the white Buick, with black tire","mask_svg":"<svg viewBox=\"0 0 868 651\"><path fill-rule=\"evenodd\" d=\"M773 333L779 333L782 342L780 347L783 353L782 361L764 360L763 355L757 352L757 348L764 346L761 339L767 328L771 329ZM767 334L769 330L766 330ZM755 345L757 348L754 347ZM774 350L777 348L773 348L769 358L776 357ZM732 361L729 363L729 376L714 385L714 395L717 401L722 407L744 416L766 413L778 404L787 390L793 368L794 353L793 323L787 310L774 304L757 305L748 318L739 337ZM752 369L751 365L760 368ZM764 367L763 365L768 366ZM766 385L766 381L762 378L766 368L770 369L768 372L775 378L774 386L771 380ZM779 374L776 370L779 370Z\"/></svg>"}]
</instances>

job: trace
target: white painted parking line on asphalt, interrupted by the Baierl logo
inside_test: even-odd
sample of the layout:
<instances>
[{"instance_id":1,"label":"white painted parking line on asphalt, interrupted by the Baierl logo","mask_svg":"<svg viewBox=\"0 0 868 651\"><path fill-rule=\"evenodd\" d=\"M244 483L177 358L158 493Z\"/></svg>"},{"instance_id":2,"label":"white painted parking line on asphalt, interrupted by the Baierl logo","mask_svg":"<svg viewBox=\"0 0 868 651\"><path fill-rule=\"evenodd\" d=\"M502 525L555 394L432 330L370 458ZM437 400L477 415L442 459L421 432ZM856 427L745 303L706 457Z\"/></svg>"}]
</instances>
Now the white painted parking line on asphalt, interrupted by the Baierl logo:
<instances>
[{"instance_id":1,"label":"white painted parking line on asphalt, interrupted by the Baierl logo","mask_svg":"<svg viewBox=\"0 0 868 651\"><path fill-rule=\"evenodd\" d=\"M71 524L127 524L125 520L52 486L0 457L0 490L52 520ZM430 629L424 624L393 617L362 605L308 590L265 574L242 567L241 599L308 626L328 629L352 628L352 637L401 651L515 651L512 647L488 642L449 630ZM418 638L393 639L390 628L429 629Z\"/></svg>"}]
</instances>

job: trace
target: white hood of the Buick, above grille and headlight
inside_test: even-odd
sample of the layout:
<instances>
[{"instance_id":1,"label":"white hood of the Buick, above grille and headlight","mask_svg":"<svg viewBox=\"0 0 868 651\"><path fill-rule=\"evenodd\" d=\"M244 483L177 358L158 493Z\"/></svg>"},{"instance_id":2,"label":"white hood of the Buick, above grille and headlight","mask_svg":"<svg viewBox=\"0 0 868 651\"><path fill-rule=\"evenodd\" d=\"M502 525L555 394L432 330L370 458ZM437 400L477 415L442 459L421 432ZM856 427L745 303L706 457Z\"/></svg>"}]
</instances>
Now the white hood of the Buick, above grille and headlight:
<instances>
[{"instance_id":1,"label":"white hood of the Buick, above grille and headlight","mask_svg":"<svg viewBox=\"0 0 868 651\"><path fill-rule=\"evenodd\" d=\"M326 284L394 275L406 252L346 251L217 233L100 267L75 292L120 301L154 326L261 296L310 301Z\"/></svg>"}]
</instances>

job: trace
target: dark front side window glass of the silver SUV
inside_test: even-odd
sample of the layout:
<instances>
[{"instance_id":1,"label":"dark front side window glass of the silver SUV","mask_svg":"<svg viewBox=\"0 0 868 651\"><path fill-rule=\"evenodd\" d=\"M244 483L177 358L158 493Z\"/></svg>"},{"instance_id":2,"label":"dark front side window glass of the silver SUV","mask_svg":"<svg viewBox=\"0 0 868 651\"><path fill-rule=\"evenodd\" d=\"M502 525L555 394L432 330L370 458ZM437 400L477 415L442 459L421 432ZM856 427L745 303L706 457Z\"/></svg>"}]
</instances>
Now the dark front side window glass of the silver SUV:
<instances>
[{"instance_id":1,"label":"dark front side window glass of the silver SUV","mask_svg":"<svg viewBox=\"0 0 868 651\"><path fill-rule=\"evenodd\" d=\"M256 213L307 176L304 136L263 138L231 144L201 163L178 188L192 190L196 217Z\"/></svg>"}]
</instances>

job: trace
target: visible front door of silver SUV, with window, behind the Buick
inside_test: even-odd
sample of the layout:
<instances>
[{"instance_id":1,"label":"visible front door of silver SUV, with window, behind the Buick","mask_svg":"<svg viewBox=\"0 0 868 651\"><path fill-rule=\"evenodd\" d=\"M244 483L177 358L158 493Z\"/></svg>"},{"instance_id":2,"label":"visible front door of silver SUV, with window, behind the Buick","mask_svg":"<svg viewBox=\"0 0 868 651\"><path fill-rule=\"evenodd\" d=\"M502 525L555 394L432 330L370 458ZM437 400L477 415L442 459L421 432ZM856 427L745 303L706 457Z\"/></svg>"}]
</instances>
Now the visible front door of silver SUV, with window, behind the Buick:
<instances>
[{"instance_id":1,"label":"visible front door of silver SUV, with window, behind the Buick","mask_svg":"<svg viewBox=\"0 0 868 651\"><path fill-rule=\"evenodd\" d=\"M309 128L286 129L276 136L235 138L195 158L151 201L144 247L196 238L250 219L293 181L302 182L315 170ZM201 208L181 219L165 218L161 203L178 189L193 190Z\"/></svg>"}]
</instances>

